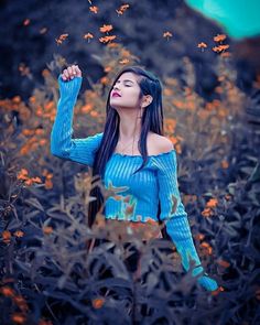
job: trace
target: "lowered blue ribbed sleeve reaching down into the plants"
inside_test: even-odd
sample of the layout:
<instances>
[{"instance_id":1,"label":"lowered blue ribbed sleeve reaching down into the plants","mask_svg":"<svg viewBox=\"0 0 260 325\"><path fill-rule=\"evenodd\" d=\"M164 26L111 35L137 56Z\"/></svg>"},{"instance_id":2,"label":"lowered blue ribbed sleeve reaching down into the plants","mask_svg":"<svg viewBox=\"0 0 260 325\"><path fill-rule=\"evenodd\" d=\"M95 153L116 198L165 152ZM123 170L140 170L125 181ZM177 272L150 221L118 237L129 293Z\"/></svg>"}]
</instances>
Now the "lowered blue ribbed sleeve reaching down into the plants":
<instances>
[{"instance_id":1,"label":"lowered blue ribbed sleeve reaching down into the plants","mask_svg":"<svg viewBox=\"0 0 260 325\"><path fill-rule=\"evenodd\" d=\"M198 283L206 290L214 291L218 288L218 284L204 272L194 246L187 213L181 201L177 186L177 160L175 150L163 154L158 165L159 198L161 203L160 219L165 220L166 232L182 258L182 266L185 271L189 270L189 259L195 260L195 268L192 275L201 274L197 278Z\"/></svg>"}]
</instances>

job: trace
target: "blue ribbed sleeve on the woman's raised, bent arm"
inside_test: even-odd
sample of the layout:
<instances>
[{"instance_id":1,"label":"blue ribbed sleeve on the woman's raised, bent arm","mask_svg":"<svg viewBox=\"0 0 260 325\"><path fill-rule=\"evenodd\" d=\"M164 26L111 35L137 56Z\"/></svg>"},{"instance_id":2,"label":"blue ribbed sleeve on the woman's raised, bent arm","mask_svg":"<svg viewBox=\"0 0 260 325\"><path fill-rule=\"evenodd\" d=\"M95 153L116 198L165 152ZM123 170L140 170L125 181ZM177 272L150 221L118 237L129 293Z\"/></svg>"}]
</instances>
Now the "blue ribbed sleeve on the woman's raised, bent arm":
<instances>
[{"instance_id":1,"label":"blue ribbed sleeve on the woman's raised, bent arm","mask_svg":"<svg viewBox=\"0 0 260 325\"><path fill-rule=\"evenodd\" d=\"M58 76L61 96L51 132L51 152L58 158L93 166L95 152L101 142L102 132L85 139L72 139L74 106L82 86L82 77L75 77L72 80L64 82L62 76Z\"/></svg>"}]
</instances>

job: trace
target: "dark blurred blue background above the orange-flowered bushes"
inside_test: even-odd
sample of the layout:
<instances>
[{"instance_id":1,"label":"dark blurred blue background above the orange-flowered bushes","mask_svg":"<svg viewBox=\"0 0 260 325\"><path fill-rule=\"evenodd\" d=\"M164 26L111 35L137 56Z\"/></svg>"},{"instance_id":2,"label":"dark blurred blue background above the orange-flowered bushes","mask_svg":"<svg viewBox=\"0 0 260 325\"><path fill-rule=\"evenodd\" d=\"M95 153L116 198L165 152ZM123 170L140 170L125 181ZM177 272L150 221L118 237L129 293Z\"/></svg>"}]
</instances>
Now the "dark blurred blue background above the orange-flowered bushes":
<instances>
[{"instance_id":1,"label":"dark blurred blue background above the orange-flowered bushes","mask_svg":"<svg viewBox=\"0 0 260 325\"><path fill-rule=\"evenodd\" d=\"M196 69L196 90L210 99L217 85L214 64L218 55L212 51L216 45L213 37L225 33L218 25L181 0L90 2L0 1L0 98L19 94L26 100L32 90L43 83L42 71L54 54L64 56L69 64L77 63L83 75L88 74L97 80L104 73L95 55L101 55L106 46L98 41L102 36L99 28L112 24L110 34L117 35L117 42L140 57L141 64L160 77L181 75L180 61L188 56ZM116 9L124 3L129 3L130 8L118 15ZM89 11L90 6L99 8L97 14ZM28 25L23 24L25 19L30 19ZM44 28L46 32L41 33ZM169 41L162 36L165 31L173 33ZM90 43L83 39L88 32L95 35ZM63 33L68 33L68 37L57 45L55 39ZM208 45L204 52L197 47L201 42ZM235 42L231 39L226 42L235 54L237 85L246 93L251 91L260 71L256 59L259 53L251 46L253 42ZM31 78L21 75L21 64L30 68Z\"/></svg>"}]
</instances>

